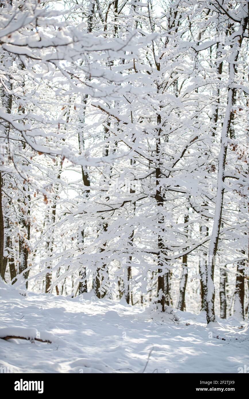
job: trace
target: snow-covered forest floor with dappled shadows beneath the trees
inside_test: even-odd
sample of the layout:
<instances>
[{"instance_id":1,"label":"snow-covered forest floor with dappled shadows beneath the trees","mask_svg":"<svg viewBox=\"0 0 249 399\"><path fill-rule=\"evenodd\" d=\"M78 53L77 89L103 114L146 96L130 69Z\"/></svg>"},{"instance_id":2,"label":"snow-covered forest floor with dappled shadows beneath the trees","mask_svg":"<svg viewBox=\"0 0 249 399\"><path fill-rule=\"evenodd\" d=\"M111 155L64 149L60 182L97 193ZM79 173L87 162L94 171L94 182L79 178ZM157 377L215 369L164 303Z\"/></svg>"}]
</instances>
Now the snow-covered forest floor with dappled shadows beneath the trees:
<instances>
[{"instance_id":1,"label":"snow-covered forest floor with dappled shadows beneath the trees","mask_svg":"<svg viewBox=\"0 0 249 399\"><path fill-rule=\"evenodd\" d=\"M204 314L176 311L176 321L122 301L24 295L0 287L0 337L52 343L0 339L0 367L14 373L238 373L249 365L246 322L207 328Z\"/></svg>"}]
</instances>

